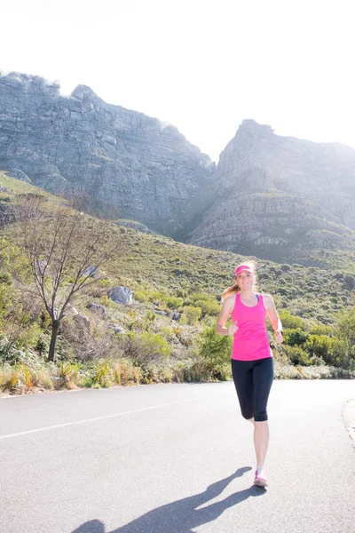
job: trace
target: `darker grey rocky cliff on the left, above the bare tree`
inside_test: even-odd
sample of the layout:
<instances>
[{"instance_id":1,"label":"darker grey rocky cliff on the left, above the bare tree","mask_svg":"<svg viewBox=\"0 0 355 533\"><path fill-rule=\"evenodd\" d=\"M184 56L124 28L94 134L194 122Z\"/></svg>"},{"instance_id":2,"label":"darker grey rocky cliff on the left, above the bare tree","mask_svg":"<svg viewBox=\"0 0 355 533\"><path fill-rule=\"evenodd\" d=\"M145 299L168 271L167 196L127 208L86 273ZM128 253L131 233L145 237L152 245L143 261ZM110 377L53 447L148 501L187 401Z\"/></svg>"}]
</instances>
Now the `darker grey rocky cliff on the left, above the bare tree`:
<instances>
[{"instance_id":1,"label":"darker grey rocky cliff on the left, above the bare tree","mask_svg":"<svg viewBox=\"0 0 355 533\"><path fill-rule=\"evenodd\" d=\"M215 164L177 129L106 104L79 85L69 98L43 78L0 76L0 169L54 194L82 190L167 235L210 203Z\"/></svg>"}]
</instances>

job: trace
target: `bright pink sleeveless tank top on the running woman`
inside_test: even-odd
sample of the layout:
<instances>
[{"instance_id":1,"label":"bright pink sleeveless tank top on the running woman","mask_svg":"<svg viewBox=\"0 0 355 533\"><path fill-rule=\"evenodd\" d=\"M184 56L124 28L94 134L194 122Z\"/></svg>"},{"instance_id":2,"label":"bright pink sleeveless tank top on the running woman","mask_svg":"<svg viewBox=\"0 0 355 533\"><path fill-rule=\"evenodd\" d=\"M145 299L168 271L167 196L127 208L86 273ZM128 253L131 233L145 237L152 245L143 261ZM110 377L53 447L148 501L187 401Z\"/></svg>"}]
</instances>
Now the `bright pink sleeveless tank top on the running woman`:
<instances>
[{"instance_id":1,"label":"bright pink sleeveless tank top on the running woman","mask_svg":"<svg viewBox=\"0 0 355 533\"><path fill-rule=\"evenodd\" d=\"M261 294L256 306L248 307L241 303L241 293L235 295L231 313L238 331L233 336L232 359L256 361L272 357L272 350L266 331L266 309Z\"/></svg>"}]
</instances>

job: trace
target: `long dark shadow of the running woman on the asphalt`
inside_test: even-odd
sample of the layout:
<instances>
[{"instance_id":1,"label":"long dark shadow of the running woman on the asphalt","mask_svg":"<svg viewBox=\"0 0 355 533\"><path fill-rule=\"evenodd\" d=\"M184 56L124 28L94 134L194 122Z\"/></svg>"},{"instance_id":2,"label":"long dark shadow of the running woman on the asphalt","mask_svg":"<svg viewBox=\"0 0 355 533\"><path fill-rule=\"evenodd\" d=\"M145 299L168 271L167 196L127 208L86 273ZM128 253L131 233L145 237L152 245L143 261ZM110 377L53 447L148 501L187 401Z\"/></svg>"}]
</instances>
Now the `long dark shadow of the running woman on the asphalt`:
<instances>
[{"instance_id":1,"label":"long dark shadow of the running woman on the asphalt","mask_svg":"<svg viewBox=\"0 0 355 533\"><path fill-rule=\"evenodd\" d=\"M162 505L113 531L106 532L101 521L92 520L85 522L72 533L192 533L194 528L216 520L225 509L240 504L248 497L261 496L266 492L265 489L252 486L199 509L201 505L219 496L234 478L241 477L249 470L250 466L243 466L224 480L209 485L204 492Z\"/></svg>"}]
</instances>

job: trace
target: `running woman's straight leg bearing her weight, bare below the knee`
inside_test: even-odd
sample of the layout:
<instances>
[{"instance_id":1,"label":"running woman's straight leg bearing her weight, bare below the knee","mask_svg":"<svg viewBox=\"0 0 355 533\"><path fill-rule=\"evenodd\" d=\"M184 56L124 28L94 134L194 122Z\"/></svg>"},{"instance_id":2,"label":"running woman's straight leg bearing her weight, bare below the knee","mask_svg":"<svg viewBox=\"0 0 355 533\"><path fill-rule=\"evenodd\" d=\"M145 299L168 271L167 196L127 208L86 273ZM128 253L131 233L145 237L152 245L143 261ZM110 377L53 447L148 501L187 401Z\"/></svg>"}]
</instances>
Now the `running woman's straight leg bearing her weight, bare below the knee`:
<instances>
[{"instance_id":1,"label":"running woman's straight leg bearing her weight, bare below the knee","mask_svg":"<svg viewBox=\"0 0 355 533\"><path fill-rule=\"evenodd\" d=\"M253 370L254 445L257 467L264 466L269 445L267 401L273 381L273 359L268 357L255 363Z\"/></svg>"}]
</instances>

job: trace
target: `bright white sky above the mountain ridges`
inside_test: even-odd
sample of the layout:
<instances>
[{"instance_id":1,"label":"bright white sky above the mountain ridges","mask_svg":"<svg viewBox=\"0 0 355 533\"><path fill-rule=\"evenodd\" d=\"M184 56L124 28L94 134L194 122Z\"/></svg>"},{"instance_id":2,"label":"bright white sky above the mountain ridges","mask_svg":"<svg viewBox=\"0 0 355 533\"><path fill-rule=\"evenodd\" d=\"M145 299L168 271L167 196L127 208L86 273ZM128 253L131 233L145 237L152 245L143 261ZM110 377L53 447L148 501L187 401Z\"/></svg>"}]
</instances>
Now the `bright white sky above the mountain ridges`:
<instances>
[{"instance_id":1,"label":"bright white sky above the mountain ridges","mask_svg":"<svg viewBox=\"0 0 355 533\"><path fill-rule=\"evenodd\" d=\"M353 0L2 0L0 70L89 85L217 161L244 118L355 147Z\"/></svg>"}]
</instances>

